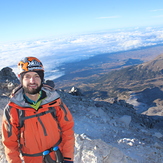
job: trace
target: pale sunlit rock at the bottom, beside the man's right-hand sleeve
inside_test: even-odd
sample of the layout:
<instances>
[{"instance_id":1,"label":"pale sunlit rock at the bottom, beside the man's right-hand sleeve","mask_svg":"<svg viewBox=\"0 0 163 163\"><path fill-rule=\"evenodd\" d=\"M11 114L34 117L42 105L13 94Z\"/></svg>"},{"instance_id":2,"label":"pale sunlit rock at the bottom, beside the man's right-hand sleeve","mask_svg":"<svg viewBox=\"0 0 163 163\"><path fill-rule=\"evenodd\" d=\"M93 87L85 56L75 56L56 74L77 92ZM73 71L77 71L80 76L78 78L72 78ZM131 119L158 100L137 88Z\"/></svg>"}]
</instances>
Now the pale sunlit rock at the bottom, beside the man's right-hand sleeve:
<instances>
[{"instance_id":1,"label":"pale sunlit rock at the bottom, beside the man's right-hand sleeve","mask_svg":"<svg viewBox=\"0 0 163 163\"><path fill-rule=\"evenodd\" d=\"M118 148L101 139L91 140L87 136L75 134L75 162L77 163L128 163L136 160L127 157Z\"/></svg>"}]
</instances>

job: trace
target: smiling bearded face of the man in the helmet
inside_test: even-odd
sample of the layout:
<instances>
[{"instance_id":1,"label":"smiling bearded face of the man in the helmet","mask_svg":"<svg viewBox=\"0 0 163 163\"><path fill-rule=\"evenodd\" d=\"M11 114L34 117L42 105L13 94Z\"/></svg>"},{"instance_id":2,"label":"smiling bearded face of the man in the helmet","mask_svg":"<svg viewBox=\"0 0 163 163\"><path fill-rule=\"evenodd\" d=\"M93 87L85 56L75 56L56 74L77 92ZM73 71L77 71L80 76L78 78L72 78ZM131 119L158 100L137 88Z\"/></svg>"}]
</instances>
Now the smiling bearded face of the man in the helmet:
<instances>
[{"instance_id":1,"label":"smiling bearded face of the man in the helmet","mask_svg":"<svg viewBox=\"0 0 163 163\"><path fill-rule=\"evenodd\" d=\"M22 82L25 93L34 95L41 90L41 78L36 72L27 72Z\"/></svg>"}]
</instances>

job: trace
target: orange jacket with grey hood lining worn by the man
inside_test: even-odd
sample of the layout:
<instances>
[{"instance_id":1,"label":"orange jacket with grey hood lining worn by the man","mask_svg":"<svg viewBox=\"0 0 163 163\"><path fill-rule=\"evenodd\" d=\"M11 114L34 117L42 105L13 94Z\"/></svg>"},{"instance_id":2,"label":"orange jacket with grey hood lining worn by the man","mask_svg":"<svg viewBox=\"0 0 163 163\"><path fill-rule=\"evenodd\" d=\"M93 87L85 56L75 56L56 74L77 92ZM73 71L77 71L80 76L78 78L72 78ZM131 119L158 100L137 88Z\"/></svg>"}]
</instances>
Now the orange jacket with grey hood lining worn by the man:
<instances>
[{"instance_id":1,"label":"orange jacket with grey hood lining worn by the man","mask_svg":"<svg viewBox=\"0 0 163 163\"><path fill-rule=\"evenodd\" d=\"M23 98L20 89L11 98L4 110L2 122L2 141L9 163L21 163L20 153L36 154L53 147L61 138L59 148L67 161L74 158L74 121L66 105L56 91L42 88L47 97L36 111ZM21 121L23 117L29 117ZM52 113L54 116L52 116ZM37 115L37 116L36 116ZM21 121L21 122L20 122ZM23 122L22 127L20 124ZM21 152L20 152L21 151ZM55 159L54 153L50 153ZM26 163L41 163L42 156L24 156ZM66 160L66 159L65 159Z\"/></svg>"}]
</instances>

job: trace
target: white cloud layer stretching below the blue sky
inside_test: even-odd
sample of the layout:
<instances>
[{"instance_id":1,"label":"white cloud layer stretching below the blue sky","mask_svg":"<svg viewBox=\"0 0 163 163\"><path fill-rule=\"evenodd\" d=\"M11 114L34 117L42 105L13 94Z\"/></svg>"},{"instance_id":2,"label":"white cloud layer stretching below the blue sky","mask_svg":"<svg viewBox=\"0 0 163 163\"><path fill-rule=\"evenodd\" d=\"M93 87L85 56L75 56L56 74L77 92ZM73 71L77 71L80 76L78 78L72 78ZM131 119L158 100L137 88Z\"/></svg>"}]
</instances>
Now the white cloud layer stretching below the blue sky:
<instances>
[{"instance_id":1,"label":"white cloud layer stretching below the blue sky","mask_svg":"<svg viewBox=\"0 0 163 163\"><path fill-rule=\"evenodd\" d=\"M18 61L26 56L35 56L43 62L46 75L55 78L63 74L57 71L57 67L66 62L162 43L163 28L150 27L6 43L0 44L0 69L9 66L18 73Z\"/></svg>"}]
</instances>

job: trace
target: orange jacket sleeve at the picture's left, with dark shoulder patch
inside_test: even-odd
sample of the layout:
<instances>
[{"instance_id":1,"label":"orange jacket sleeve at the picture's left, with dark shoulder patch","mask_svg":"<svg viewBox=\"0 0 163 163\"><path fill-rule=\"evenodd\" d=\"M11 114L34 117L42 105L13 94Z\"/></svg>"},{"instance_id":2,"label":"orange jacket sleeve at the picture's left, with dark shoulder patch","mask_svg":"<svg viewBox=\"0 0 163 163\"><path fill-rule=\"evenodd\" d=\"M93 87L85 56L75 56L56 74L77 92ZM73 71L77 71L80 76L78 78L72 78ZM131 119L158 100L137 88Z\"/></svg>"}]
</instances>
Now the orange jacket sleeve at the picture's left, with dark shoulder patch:
<instances>
[{"instance_id":1,"label":"orange jacket sleeve at the picture's left, with dark shoulder patch","mask_svg":"<svg viewBox=\"0 0 163 163\"><path fill-rule=\"evenodd\" d=\"M16 109L15 109L16 112ZM16 116L16 113L15 113ZM17 128L18 117L14 117L14 108L9 105L4 109L2 119L2 142L5 148L6 159L8 163L21 163L19 147L18 147L18 135Z\"/></svg>"}]
</instances>

